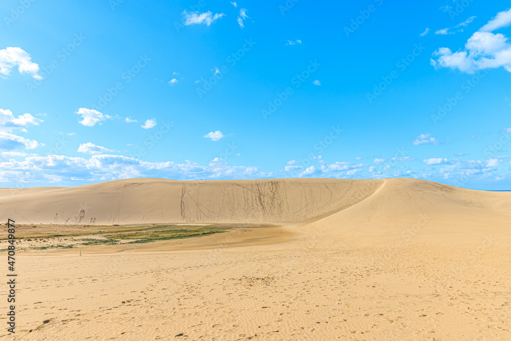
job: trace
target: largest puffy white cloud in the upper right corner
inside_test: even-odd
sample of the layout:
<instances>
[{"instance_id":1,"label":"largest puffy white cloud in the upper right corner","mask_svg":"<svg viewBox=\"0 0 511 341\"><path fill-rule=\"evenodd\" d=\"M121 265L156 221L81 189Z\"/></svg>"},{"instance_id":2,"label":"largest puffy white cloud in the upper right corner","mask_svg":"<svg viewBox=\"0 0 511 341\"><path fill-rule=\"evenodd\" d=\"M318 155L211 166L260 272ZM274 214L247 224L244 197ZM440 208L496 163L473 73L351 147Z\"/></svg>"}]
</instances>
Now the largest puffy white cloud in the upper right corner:
<instances>
[{"instance_id":1,"label":"largest puffy white cloud in the upper right corner","mask_svg":"<svg viewBox=\"0 0 511 341\"><path fill-rule=\"evenodd\" d=\"M464 50L453 53L449 48L440 48L433 53L431 64L436 69L449 67L469 74L498 67L511 72L511 44L508 38L501 33L491 32L511 24L510 17L511 9L498 13L468 39Z\"/></svg>"}]
</instances>

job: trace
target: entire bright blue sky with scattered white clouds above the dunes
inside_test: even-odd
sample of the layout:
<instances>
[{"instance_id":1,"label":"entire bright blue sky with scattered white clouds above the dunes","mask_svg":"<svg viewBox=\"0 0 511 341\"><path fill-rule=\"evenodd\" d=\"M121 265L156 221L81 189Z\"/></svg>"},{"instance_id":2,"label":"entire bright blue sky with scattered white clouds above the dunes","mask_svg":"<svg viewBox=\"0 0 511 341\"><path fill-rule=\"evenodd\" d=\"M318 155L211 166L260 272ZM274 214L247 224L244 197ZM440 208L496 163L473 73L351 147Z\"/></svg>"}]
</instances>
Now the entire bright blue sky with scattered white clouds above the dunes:
<instances>
[{"instance_id":1,"label":"entire bright blue sky with scattered white clouds above the dunes","mask_svg":"<svg viewBox=\"0 0 511 341\"><path fill-rule=\"evenodd\" d=\"M0 187L511 189L508 2L9 0L0 12Z\"/></svg>"}]
</instances>

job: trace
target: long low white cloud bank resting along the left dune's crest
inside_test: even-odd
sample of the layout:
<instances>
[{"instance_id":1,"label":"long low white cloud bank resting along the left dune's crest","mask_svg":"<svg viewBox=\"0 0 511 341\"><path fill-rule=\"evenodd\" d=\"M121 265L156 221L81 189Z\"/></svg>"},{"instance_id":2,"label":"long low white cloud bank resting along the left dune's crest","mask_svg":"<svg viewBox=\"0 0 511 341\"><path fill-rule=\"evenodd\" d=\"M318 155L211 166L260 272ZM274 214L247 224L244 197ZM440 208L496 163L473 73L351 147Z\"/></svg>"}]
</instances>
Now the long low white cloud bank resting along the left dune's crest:
<instances>
[{"instance_id":1,"label":"long low white cloud bank resting along the left dune's crest","mask_svg":"<svg viewBox=\"0 0 511 341\"><path fill-rule=\"evenodd\" d=\"M216 163L202 166L191 161L179 164L174 162L144 162L121 155L91 155L90 158L68 157L63 155L27 156L21 161L0 161L0 179L14 186L19 179L31 172L33 185L60 182L75 184L97 183L99 181L126 179L133 177L159 177L176 180L225 179L225 178L269 178L273 173L261 172L253 166L228 166ZM29 184L26 185L26 187ZM76 186L76 185L75 185ZM18 186L19 187L19 186Z\"/></svg>"}]
</instances>

